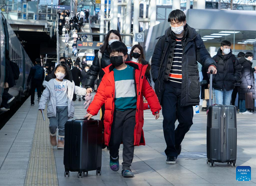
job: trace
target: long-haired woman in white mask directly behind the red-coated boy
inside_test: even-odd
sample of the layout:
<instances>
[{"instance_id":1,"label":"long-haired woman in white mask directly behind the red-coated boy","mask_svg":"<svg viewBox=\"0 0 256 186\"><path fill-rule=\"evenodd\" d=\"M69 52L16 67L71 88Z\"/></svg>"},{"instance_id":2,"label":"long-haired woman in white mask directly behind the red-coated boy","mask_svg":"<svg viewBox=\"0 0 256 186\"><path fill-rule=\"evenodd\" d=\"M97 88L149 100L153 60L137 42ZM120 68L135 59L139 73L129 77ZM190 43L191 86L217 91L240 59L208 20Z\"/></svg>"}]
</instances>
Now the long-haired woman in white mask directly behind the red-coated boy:
<instances>
[{"instance_id":1,"label":"long-haired woman in white mask directly behind the red-coated boy","mask_svg":"<svg viewBox=\"0 0 256 186\"><path fill-rule=\"evenodd\" d=\"M85 81L85 87L87 88L88 93L91 93L93 91L91 87L94 86L94 82L98 76L99 76L99 79L98 79L97 87L99 86L101 79L104 75L104 72L102 69L111 64L108 49L109 49L109 45L113 42L122 42L121 35L117 30L110 30L108 32L104 41L104 45L101 46L99 52L95 54L93 64L89 69L89 72L87 74L87 79ZM126 61L130 61L129 55ZM101 107L101 113L102 114L100 118L103 124L103 117L105 114L105 105ZM105 144L102 143L102 148L104 149L105 147L106 147Z\"/></svg>"}]
</instances>

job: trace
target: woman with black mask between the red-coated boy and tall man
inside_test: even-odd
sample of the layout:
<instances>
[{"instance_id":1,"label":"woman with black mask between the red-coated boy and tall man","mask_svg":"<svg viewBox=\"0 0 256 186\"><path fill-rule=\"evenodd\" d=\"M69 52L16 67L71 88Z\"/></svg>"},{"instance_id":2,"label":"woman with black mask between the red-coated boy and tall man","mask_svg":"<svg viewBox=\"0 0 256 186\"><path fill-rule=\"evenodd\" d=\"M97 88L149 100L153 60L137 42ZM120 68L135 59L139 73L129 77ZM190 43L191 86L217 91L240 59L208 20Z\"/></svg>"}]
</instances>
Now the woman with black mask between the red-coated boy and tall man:
<instances>
[{"instance_id":1,"label":"woman with black mask between the red-coated boy and tall man","mask_svg":"<svg viewBox=\"0 0 256 186\"><path fill-rule=\"evenodd\" d=\"M150 67L150 64L148 63L148 61L145 60L142 46L134 45L132 47L130 57L131 57L131 61L133 61L133 62L138 62L143 65L148 65L145 75L151 83L151 77L150 77L151 67Z\"/></svg>"}]
</instances>

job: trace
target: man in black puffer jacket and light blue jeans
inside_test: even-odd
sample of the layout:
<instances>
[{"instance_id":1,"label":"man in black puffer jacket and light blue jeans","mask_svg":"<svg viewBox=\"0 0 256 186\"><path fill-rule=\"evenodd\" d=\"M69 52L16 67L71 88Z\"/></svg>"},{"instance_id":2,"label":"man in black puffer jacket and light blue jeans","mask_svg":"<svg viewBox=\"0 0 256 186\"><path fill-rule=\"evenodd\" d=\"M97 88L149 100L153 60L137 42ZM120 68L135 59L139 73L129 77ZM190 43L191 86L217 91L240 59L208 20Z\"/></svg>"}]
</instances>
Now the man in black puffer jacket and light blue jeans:
<instances>
[{"instance_id":1,"label":"man in black puffer jacket and light blue jeans","mask_svg":"<svg viewBox=\"0 0 256 186\"><path fill-rule=\"evenodd\" d=\"M216 98L216 104L230 105L231 95L235 83L241 77L241 65L232 54L229 41L222 41L217 55L213 57L217 63L217 74L212 76L212 87Z\"/></svg>"}]
</instances>

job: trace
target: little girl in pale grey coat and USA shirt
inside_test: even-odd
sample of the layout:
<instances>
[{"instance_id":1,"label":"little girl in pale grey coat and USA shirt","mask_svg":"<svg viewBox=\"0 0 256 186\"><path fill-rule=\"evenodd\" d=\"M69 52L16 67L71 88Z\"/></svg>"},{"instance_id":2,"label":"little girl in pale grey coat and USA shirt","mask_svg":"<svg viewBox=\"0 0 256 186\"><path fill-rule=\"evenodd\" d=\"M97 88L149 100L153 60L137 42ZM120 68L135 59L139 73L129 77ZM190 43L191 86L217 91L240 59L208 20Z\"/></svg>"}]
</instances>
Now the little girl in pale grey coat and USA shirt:
<instances>
[{"instance_id":1,"label":"little girl in pale grey coat and USA shirt","mask_svg":"<svg viewBox=\"0 0 256 186\"><path fill-rule=\"evenodd\" d=\"M66 72L67 67L64 64L56 66L55 78L43 83L46 88L38 106L38 110L42 112L47 104L47 117L50 120L50 143L52 146L57 145L57 149L64 149L64 125L68 119L74 117L73 94L86 95L86 88L75 86L74 81L67 80L68 74ZM56 139L57 128L59 128L58 143Z\"/></svg>"}]
</instances>

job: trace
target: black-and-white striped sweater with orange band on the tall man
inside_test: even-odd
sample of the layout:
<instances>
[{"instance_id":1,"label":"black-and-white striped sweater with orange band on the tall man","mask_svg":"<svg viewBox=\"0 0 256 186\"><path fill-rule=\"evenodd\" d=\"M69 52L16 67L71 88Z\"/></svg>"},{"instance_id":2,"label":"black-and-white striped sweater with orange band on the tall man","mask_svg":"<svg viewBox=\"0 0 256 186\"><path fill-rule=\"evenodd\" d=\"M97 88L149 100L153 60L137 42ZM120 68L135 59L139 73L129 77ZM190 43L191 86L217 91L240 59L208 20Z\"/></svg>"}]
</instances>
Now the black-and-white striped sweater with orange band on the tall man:
<instances>
[{"instance_id":1,"label":"black-and-white striped sweater with orange band on the tall man","mask_svg":"<svg viewBox=\"0 0 256 186\"><path fill-rule=\"evenodd\" d=\"M181 68L181 60L182 60L182 45L181 38L176 38L176 45L174 47L173 53L173 61L172 67L170 70L169 78L170 84L173 87L181 88L181 80L182 80L182 68Z\"/></svg>"}]
</instances>

